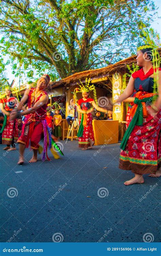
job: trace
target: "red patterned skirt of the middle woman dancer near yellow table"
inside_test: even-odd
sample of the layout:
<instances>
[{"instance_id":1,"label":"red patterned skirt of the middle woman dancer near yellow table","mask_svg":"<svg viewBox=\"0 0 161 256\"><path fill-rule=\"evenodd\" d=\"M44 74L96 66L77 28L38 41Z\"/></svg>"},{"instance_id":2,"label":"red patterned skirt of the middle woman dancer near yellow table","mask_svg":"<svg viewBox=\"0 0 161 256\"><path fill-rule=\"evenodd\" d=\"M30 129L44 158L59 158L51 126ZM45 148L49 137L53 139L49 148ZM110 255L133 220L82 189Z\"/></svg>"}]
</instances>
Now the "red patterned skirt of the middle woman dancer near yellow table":
<instances>
[{"instance_id":1,"label":"red patterned skirt of the middle woman dancer near yellow table","mask_svg":"<svg viewBox=\"0 0 161 256\"><path fill-rule=\"evenodd\" d=\"M79 118L79 125L81 123L82 115L80 115ZM87 117L87 125L84 126L83 130L83 136L79 137L79 148L87 148L90 146L90 142L88 139L91 139L94 141L94 132L93 132L93 126L92 126L92 114L89 113Z\"/></svg>"}]
</instances>

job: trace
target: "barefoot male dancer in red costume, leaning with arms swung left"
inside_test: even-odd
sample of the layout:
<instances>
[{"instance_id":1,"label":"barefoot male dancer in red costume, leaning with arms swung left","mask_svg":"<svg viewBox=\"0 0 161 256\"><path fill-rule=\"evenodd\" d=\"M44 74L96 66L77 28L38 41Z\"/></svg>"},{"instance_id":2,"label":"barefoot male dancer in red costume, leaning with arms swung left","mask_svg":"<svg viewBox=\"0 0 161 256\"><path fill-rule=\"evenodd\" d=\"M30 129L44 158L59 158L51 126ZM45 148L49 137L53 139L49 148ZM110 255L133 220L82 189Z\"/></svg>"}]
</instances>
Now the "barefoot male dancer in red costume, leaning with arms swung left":
<instances>
[{"instance_id":1,"label":"barefoot male dancer in red costume, leaning with arms swung left","mask_svg":"<svg viewBox=\"0 0 161 256\"><path fill-rule=\"evenodd\" d=\"M48 94L44 89L48 86L50 81L49 75L45 74L37 81L36 88L26 89L24 95L18 103L17 108L10 114L10 119L14 120L16 117L25 116L25 122L22 127L22 134L18 139L19 143L19 161L18 164L23 164L23 154L25 147L29 146L29 140L31 148L33 149L33 157L29 161L30 163L37 162L37 151L39 148L39 142L41 140L42 131L46 131L46 109L48 104ZM19 112L24 103L28 101L28 109ZM47 146L47 143L46 143ZM44 149L47 152L47 149Z\"/></svg>"}]
</instances>

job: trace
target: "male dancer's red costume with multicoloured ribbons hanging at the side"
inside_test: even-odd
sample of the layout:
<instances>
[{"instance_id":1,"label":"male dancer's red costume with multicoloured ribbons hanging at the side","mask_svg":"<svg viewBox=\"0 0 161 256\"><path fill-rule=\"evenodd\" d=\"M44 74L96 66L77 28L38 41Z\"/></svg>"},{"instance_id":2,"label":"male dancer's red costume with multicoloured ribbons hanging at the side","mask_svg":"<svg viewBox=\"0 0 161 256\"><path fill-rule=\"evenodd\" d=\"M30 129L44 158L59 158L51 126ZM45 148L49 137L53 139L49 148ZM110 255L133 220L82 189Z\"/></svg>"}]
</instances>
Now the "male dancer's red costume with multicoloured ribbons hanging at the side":
<instances>
[{"instance_id":1,"label":"male dancer's red costume with multicoloured ribbons hanging at the side","mask_svg":"<svg viewBox=\"0 0 161 256\"><path fill-rule=\"evenodd\" d=\"M36 88L30 89L28 97L29 108L33 107L35 103L40 100L41 96L48 95L46 91L42 91L39 95L35 96L35 91ZM38 149L39 153L42 152L43 161L46 157L48 160L50 160L47 154L48 145L55 158L59 158L59 156L55 151L53 151L53 147L56 148L57 152L59 151L59 153L62 154L58 146L55 144L55 141L51 138L51 132L46 121L46 109L47 104L44 104L42 107L39 107L34 113L26 115L24 124L22 126L22 133L18 139L18 143L26 145L26 148L29 147L30 142L32 149ZM39 145L42 135L44 138L43 148Z\"/></svg>"}]
</instances>

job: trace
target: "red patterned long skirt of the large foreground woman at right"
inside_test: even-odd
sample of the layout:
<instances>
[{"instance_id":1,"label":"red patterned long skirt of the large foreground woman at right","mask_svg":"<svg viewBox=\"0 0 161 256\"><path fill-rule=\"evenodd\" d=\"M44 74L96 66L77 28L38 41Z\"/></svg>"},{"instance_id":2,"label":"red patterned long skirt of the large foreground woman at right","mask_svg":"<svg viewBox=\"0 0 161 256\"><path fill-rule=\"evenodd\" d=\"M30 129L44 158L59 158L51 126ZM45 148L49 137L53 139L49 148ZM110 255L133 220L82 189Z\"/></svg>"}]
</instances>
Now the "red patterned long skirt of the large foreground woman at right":
<instances>
[{"instance_id":1,"label":"red patterned long skirt of the large foreground woman at right","mask_svg":"<svg viewBox=\"0 0 161 256\"><path fill-rule=\"evenodd\" d=\"M120 153L119 168L135 174L155 174L161 163L161 112L154 119L148 115L143 125L136 125L125 150Z\"/></svg>"}]
</instances>

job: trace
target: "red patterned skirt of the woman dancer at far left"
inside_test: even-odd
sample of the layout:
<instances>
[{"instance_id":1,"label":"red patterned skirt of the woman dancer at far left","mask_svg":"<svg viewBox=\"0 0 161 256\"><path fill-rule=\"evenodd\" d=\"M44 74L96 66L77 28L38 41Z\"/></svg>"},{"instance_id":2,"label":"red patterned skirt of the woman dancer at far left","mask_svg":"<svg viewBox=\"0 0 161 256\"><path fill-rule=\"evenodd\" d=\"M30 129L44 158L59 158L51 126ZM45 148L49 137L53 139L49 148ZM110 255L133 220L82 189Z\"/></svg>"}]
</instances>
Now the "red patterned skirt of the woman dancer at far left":
<instances>
[{"instance_id":1,"label":"red patterned skirt of the woman dancer at far left","mask_svg":"<svg viewBox=\"0 0 161 256\"><path fill-rule=\"evenodd\" d=\"M17 119L13 121L7 119L6 126L2 133L2 144L12 144L13 139L14 142L18 139L18 122Z\"/></svg>"}]
</instances>

